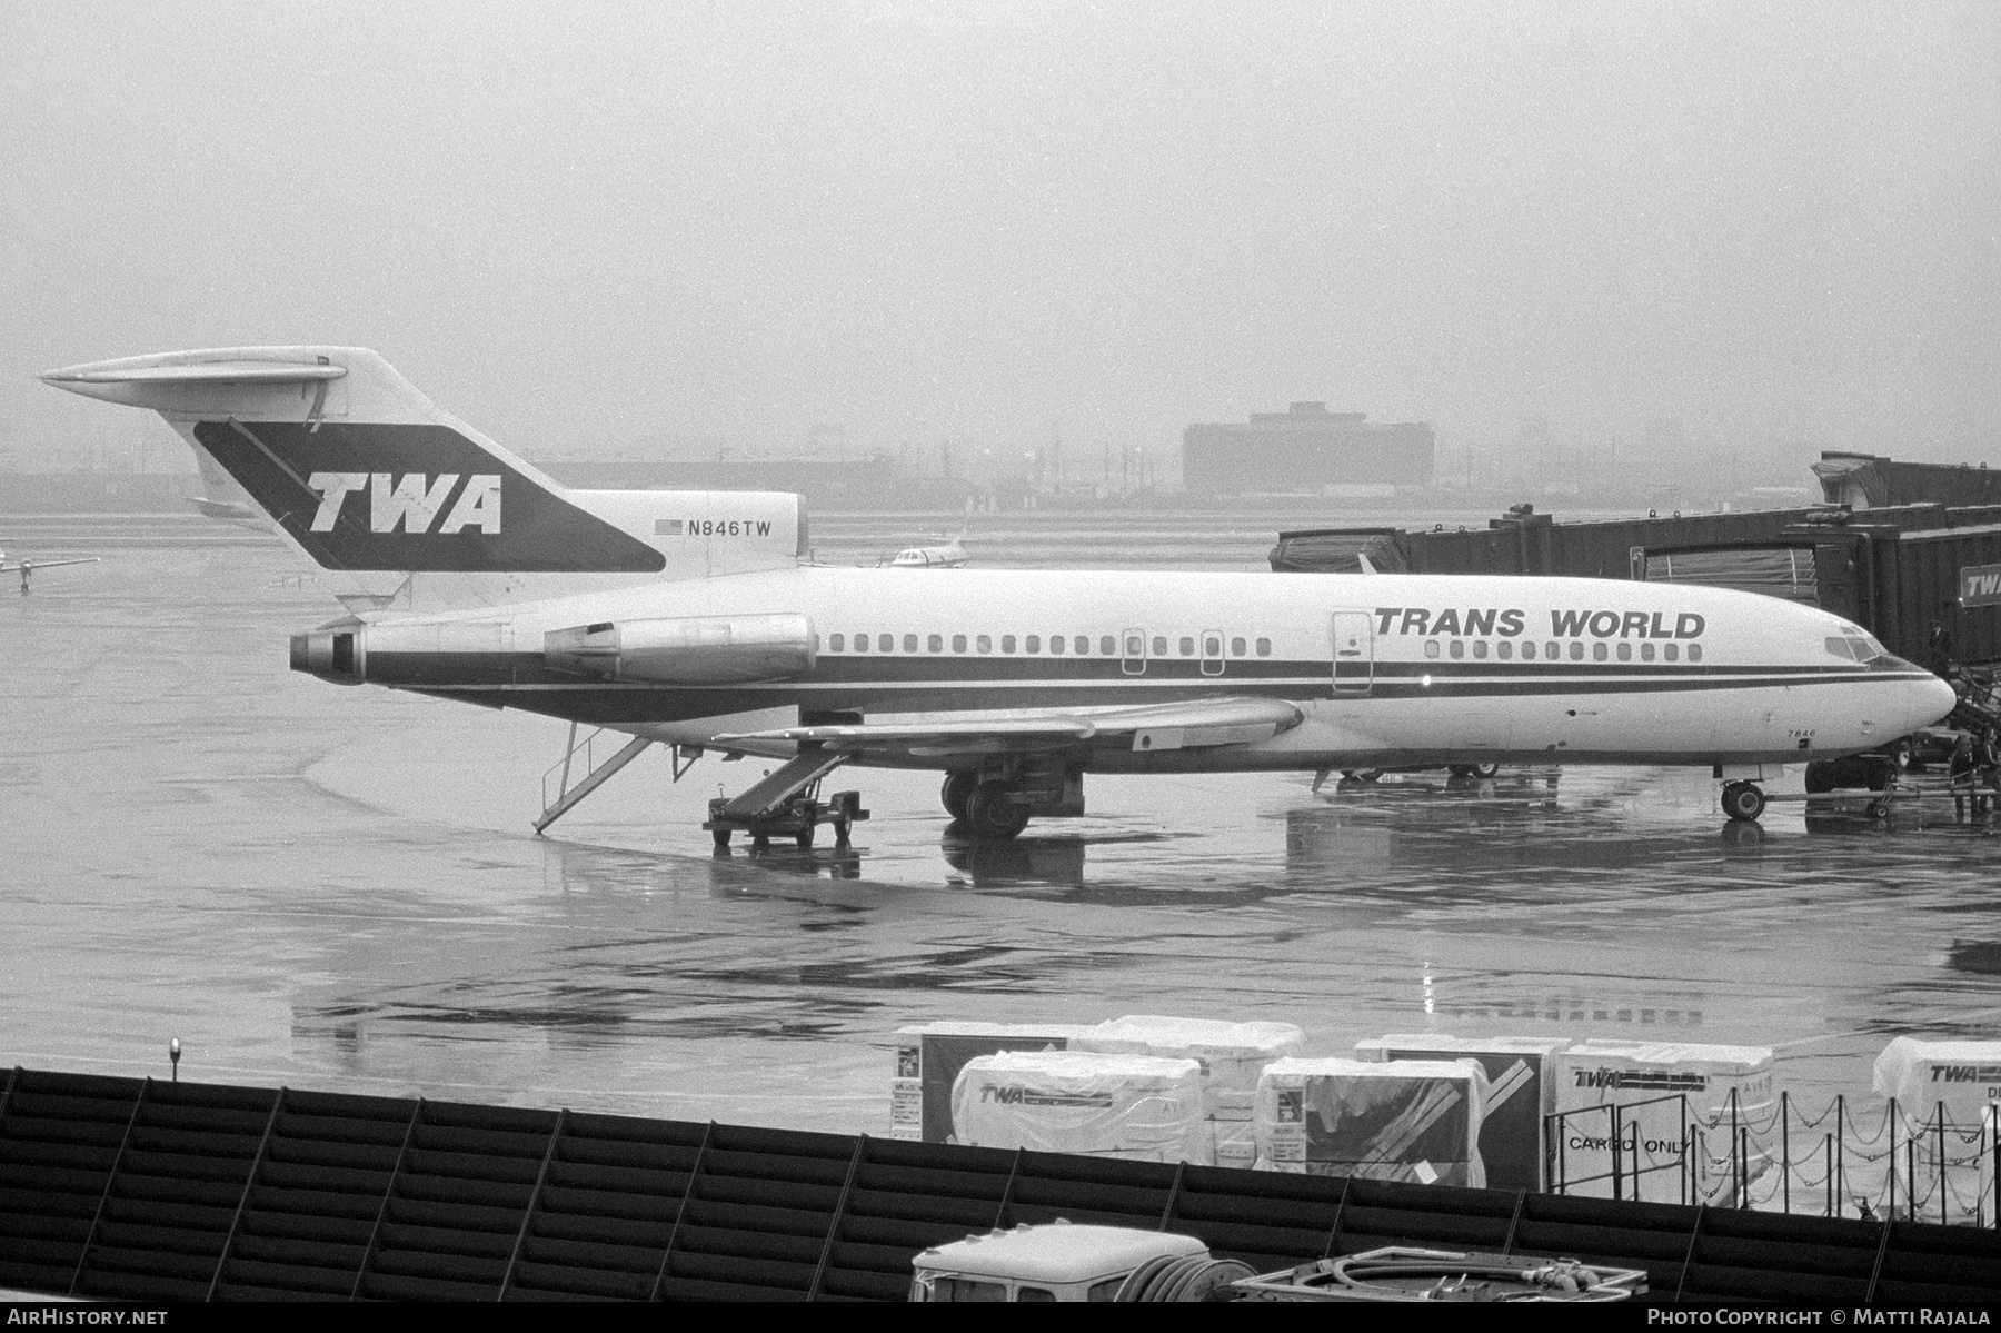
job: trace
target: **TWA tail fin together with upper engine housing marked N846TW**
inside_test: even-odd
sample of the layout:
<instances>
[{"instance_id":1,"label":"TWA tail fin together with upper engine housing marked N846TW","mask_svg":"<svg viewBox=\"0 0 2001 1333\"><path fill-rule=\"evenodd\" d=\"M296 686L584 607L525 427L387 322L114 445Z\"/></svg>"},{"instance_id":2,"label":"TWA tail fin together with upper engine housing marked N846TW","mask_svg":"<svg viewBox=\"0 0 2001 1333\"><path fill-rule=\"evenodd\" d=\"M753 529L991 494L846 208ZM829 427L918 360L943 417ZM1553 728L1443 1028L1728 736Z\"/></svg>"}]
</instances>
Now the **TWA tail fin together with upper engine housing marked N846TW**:
<instances>
[{"instance_id":1,"label":"TWA tail fin together with upper engine housing marked N846TW","mask_svg":"<svg viewBox=\"0 0 2001 1333\"><path fill-rule=\"evenodd\" d=\"M570 490L442 412L366 348L258 346L50 370L86 398L152 408L308 560L348 574L350 606L490 602L624 582L790 568L798 496ZM236 518L234 496L204 496ZM204 512L210 512L202 504Z\"/></svg>"}]
</instances>

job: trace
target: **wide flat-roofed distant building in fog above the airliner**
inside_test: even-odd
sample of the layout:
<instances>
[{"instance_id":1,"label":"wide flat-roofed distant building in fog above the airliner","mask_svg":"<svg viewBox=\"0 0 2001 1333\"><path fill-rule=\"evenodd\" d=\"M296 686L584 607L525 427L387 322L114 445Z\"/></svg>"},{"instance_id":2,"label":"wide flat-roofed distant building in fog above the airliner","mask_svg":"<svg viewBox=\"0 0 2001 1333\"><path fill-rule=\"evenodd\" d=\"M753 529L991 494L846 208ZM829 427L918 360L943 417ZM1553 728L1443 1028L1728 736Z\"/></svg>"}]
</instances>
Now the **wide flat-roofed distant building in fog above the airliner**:
<instances>
[{"instance_id":1,"label":"wide flat-roofed distant building in fog above the airliner","mask_svg":"<svg viewBox=\"0 0 2001 1333\"><path fill-rule=\"evenodd\" d=\"M1313 490L1381 496L1429 486L1437 440L1427 422L1371 424L1363 412L1295 402L1247 424L1189 426L1181 476L1189 494Z\"/></svg>"}]
</instances>

